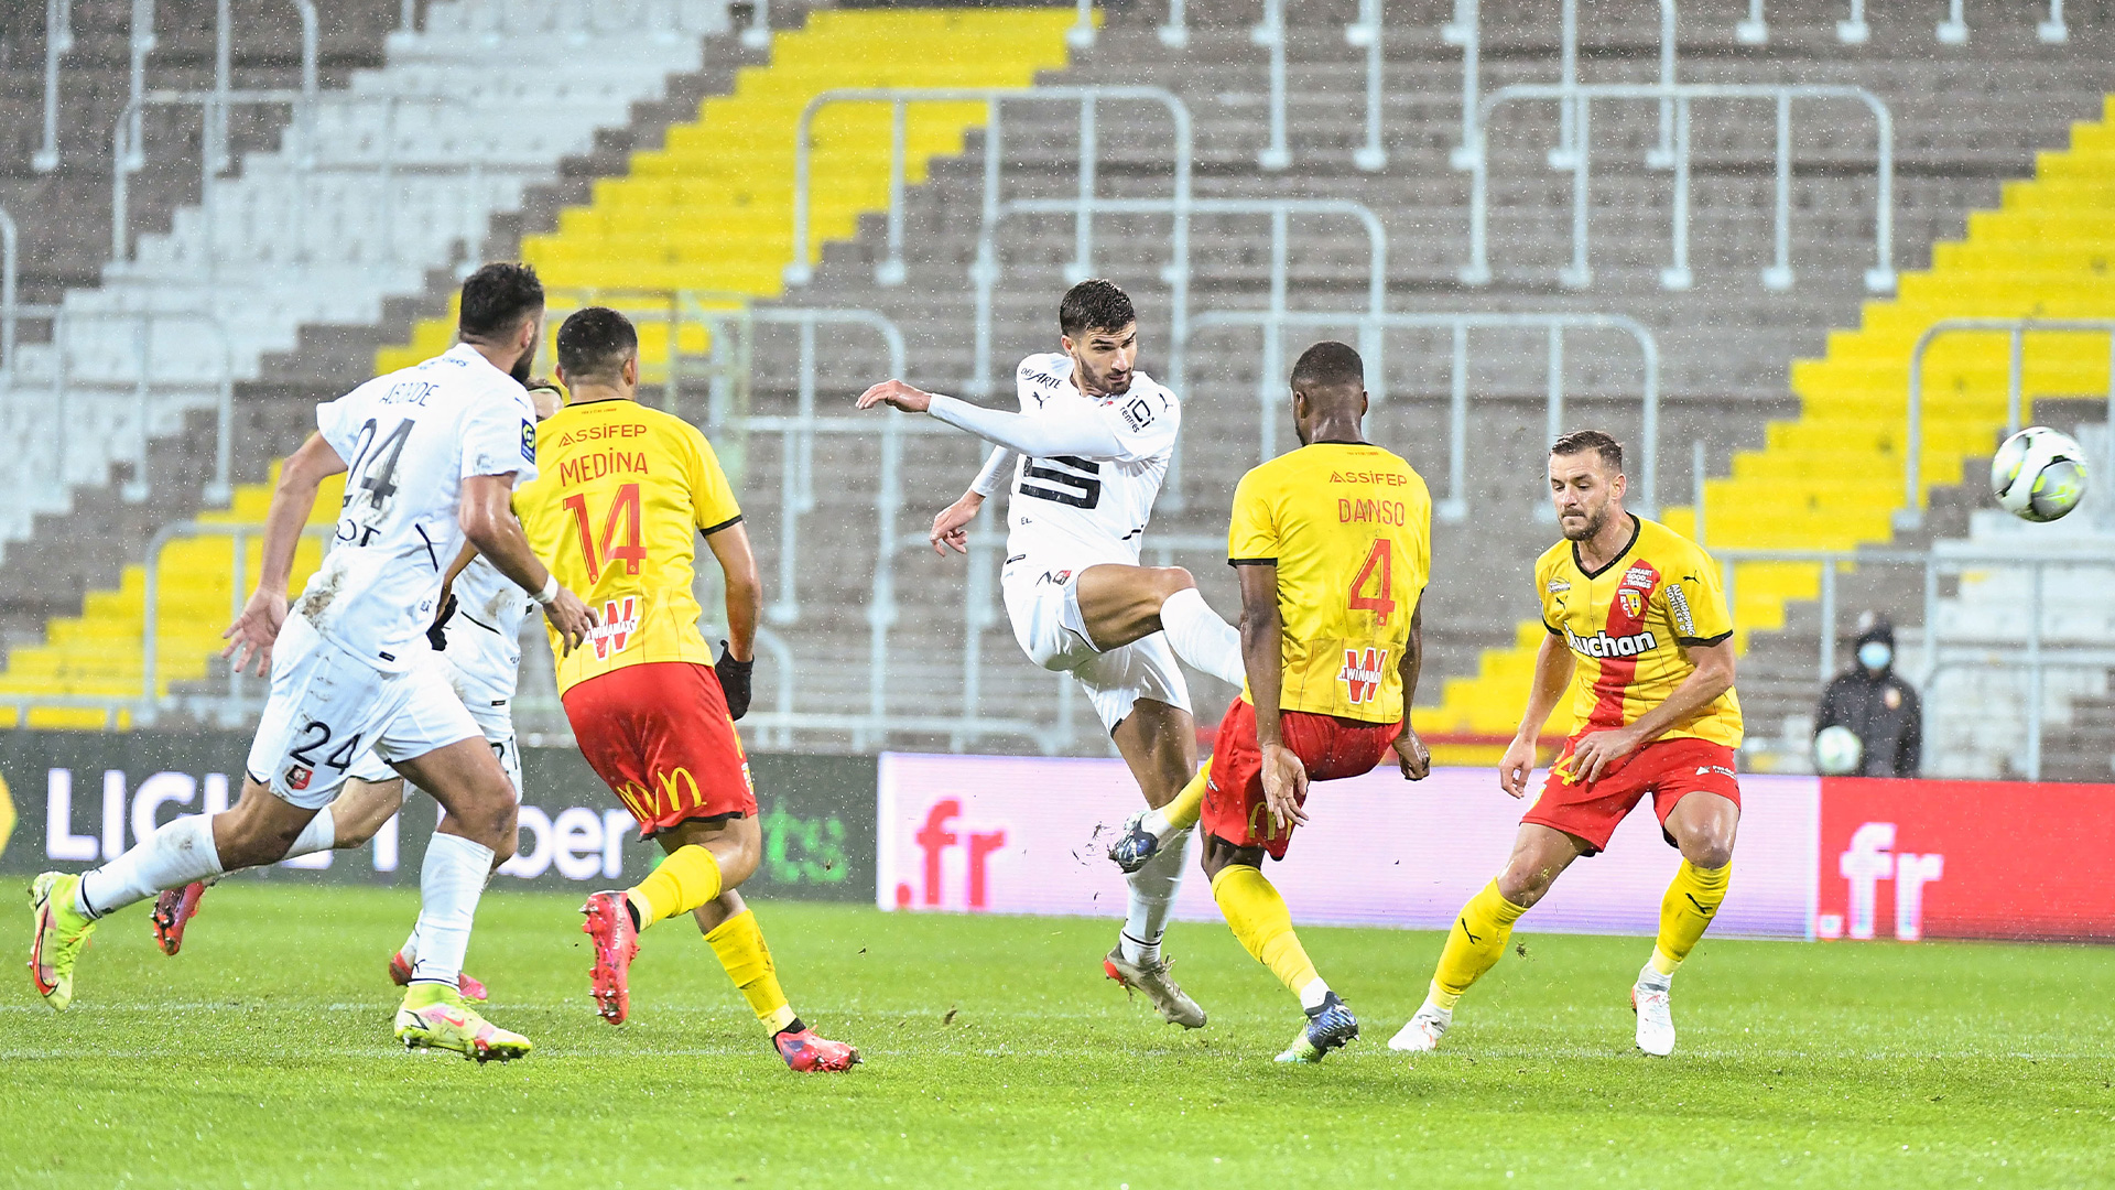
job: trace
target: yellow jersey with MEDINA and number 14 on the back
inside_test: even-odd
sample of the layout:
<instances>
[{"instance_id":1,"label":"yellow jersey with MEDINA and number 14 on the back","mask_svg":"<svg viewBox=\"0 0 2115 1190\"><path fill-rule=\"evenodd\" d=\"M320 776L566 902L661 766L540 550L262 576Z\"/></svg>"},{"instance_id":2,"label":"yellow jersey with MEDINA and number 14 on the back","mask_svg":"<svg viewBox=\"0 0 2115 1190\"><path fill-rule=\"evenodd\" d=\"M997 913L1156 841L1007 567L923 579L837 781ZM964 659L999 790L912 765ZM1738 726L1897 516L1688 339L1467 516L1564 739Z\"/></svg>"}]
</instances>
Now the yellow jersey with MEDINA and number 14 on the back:
<instances>
[{"instance_id":1,"label":"yellow jersey with MEDINA and number 14 on the back","mask_svg":"<svg viewBox=\"0 0 2115 1190\"><path fill-rule=\"evenodd\" d=\"M537 479L514 491L529 544L601 627L571 656L552 633L558 692L649 661L713 663L692 595L698 534L742 519L713 445L637 400L567 404L537 426Z\"/></svg>"}]
</instances>

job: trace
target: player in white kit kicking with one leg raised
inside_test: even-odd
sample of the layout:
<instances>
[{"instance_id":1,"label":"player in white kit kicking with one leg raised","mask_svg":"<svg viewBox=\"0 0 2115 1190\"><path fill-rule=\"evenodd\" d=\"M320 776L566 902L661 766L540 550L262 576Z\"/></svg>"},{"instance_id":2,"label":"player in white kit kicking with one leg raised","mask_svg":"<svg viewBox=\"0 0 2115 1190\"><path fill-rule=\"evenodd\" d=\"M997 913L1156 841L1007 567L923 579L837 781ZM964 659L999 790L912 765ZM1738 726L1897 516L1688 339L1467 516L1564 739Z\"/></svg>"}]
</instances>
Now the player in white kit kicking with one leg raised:
<instances>
[{"instance_id":1,"label":"player in white kit kicking with one leg raised","mask_svg":"<svg viewBox=\"0 0 2115 1190\"><path fill-rule=\"evenodd\" d=\"M1242 639L1187 570L1138 565L1182 402L1136 371L1132 299L1110 282L1081 282L1058 305L1058 328L1064 351L1028 356L1015 373L1019 413L897 379L869 387L859 407L931 413L996 447L971 489L933 519L933 548L969 553L967 525L986 498L1011 489L1000 591L1013 637L1030 661L1087 688L1146 805L1161 807L1197 771L1197 724L1176 656L1239 686ZM1165 1021L1197 1029L1203 1010L1161 957L1187 843L1187 832L1172 839L1125 877L1123 934L1102 968L1144 991Z\"/></svg>"}]
</instances>

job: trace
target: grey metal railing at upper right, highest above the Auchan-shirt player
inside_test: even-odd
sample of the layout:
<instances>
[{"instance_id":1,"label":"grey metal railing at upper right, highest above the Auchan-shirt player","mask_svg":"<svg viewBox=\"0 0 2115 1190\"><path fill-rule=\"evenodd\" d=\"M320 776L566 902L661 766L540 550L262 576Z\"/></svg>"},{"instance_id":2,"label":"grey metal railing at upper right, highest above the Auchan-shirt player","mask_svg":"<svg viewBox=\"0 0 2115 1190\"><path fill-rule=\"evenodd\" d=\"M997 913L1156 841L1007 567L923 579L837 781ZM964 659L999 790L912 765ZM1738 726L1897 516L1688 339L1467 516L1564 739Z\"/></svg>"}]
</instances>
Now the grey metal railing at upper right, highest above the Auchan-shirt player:
<instances>
[{"instance_id":1,"label":"grey metal railing at upper right, highest above the Auchan-shirt player","mask_svg":"<svg viewBox=\"0 0 2115 1190\"><path fill-rule=\"evenodd\" d=\"M1590 188L1590 116L1595 100L1660 100L1671 102L1673 112L1673 172L1675 172L1675 252L1673 263L1660 280L1669 288L1686 288L1688 269L1688 201L1690 201L1690 104L1694 100L1774 100L1777 104L1777 195L1774 231L1777 246L1770 267L1762 271L1764 286L1785 290L1791 286L1791 102L1794 100L1857 100L1872 112L1876 129L1874 148L1874 267L1865 271L1870 292L1893 292L1893 220L1895 220L1895 127L1887 104L1863 87L1838 85L1772 85L1772 83L1576 83L1544 85L1516 83L1485 95L1476 110L1476 127L1470 131L1470 263L1461 269L1461 282L1470 286L1491 284L1489 220L1491 220L1491 163L1489 163L1489 121L1491 114L1514 102L1552 100L1563 110L1576 112L1574 142L1578 152L1571 165L1571 263L1559 271L1559 280L1571 288L1593 284L1588 265L1588 188Z\"/></svg>"}]
</instances>

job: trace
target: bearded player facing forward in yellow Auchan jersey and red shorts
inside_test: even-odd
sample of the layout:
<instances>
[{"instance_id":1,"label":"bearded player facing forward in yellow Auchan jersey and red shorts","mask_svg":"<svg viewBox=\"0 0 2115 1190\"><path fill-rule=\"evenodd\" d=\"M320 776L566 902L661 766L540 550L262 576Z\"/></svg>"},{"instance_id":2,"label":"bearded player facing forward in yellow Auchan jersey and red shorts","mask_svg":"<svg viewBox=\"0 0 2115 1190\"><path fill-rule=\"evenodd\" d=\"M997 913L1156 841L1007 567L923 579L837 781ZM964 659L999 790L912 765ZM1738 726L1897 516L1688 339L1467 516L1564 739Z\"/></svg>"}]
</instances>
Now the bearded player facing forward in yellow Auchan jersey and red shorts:
<instances>
[{"instance_id":1,"label":"bearded player facing forward in yellow Auchan jersey and red shorts","mask_svg":"<svg viewBox=\"0 0 2115 1190\"><path fill-rule=\"evenodd\" d=\"M1521 817L1506 868L1461 906L1432 993L1390 1042L1394 1050L1438 1046L1455 1002L1506 951L1512 923L1574 860L1607 847L1648 794L1667 841L1681 849L1660 900L1660 938L1631 989L1637 1048L1648 1054L1675 1050L1671 978L1726 900L1741 824L1741 701L1717 567L1696 542L1622 510L1622 445L1599 430L1550 447L1550 493L1565 534L1535 563L1550 635L1500 786L1516 798L1527 792L1535 737L1567 684L1578 731Z\"/></svg>"}]
</instances>

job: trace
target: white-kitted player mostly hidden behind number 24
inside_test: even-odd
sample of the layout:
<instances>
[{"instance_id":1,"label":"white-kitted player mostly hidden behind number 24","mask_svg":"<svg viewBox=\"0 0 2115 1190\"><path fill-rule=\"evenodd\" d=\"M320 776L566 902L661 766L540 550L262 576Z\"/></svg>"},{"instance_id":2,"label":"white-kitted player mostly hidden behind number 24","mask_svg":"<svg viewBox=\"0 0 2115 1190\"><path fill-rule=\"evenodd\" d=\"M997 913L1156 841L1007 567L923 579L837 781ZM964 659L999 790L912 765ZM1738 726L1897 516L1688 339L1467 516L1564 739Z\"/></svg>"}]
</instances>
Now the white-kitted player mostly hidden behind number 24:
<instances>
[{"instance_id":1,"label":"white-kitted player mostly hidden behind number 24","mask_svg":"<svg viewBox=\"0 0 2115 1190\"><path fill-rule=\"evenodd\" d=\"M565 394L552 381L537 379L529 383L529 402L541 421L565 407ZM425 663L440 669L478 724L484 743L493 745L493 756L514 786L516 803L522 794L522 767L514 741L512 703L522 661L520 625L533 606L527 591L465 544L448 574L440 616L425 633L434 646ZM309 819L288 847L286 860L366 847L404 807L404 777L398 777L396 769L370 747L347 771L345 792ZM154 942L165 955L184 949L184 932L212 883L218 881L192 881L154 900L150 921ZM404 946L389 955L389 978L410 985L417 959L419 932L412 930ZM484 982L470 972L459 976L457 989L463 999L486 999Z\"/></svg>"}]
</instances>

